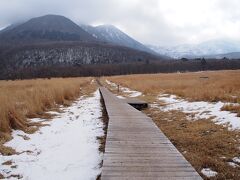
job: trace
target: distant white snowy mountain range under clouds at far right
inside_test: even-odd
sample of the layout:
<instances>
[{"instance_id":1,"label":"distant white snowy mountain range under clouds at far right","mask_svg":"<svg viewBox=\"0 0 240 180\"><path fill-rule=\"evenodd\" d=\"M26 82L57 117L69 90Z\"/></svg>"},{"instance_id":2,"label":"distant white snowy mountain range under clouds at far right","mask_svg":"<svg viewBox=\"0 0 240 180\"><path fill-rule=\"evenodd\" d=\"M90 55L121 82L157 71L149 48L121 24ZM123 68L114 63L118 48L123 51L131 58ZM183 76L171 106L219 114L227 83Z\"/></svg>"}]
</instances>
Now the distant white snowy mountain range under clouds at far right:
<instances>
[{"instance_id":1,"label":"distant white snowy mountain range under clouds at far right","mask_svg":"<svg viewBox=\"0 0 240 180\"><path fill-rule=\"evenodd\" d=\"M212 40L196 45L184 44L173 47L152 46L148 47L159 54L173 58L217 57L219 54L240 52L240 42L233 40Z\"/></svg>"}]
</instances>

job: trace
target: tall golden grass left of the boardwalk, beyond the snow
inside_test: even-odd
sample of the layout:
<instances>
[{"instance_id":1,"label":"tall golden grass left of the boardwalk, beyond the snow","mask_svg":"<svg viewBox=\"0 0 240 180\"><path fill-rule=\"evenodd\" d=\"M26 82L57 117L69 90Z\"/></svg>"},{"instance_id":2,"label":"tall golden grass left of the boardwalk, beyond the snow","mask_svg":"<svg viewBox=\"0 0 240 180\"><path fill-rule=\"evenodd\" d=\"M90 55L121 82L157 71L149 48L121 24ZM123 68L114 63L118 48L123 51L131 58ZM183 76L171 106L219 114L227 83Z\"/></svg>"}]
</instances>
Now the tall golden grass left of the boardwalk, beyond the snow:
<instances>
[{"instance_id":1,"label":"tall golden grass left of the boardwalk, beyond the snow","mask_svg":"<svg viewBox=\"0 0 240 180\"><path fill-rule=\"evenodd\" d=\"M40 124L28 118L50 118L45 111L69 105L80 94L95 89L92 78L55 78L19 81L0 81L0 152L12 154L14 150L2 146L11 139L12 129L32 133ZM80 90L81 88L81 90Z\"/></svg>"}]
</instances>

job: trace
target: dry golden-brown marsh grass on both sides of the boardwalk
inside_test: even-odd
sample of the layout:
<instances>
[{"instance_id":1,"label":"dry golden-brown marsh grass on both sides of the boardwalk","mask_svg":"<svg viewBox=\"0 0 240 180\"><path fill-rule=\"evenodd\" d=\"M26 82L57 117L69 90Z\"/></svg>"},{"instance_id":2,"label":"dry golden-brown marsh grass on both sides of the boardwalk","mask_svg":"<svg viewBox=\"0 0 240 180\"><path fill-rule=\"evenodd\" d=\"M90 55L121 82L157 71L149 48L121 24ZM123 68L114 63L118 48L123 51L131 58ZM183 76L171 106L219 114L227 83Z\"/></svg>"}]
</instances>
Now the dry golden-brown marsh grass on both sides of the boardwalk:
<instances>
[{"instance_id":1,"label":"dry golden-brown marsh grass on both sides of the boardwalk","mask_svg":"<svg viewBox=\"0 0 240 180\"><path fill-rule=\"evenodd\" d=\"M168 94L189 102L221 101L227 103L222 110L239 116L239 70L100 78L100 82L113 93L127 96L111 87L106 80L142 93L139 98L150 104L144 113L153 119L204 179L240 179L240 163L233 160L240 155L239 129L216 124L212 118L191 121L189 116L194 114L179 110L162 111L151 106L165 106L158 97L159 94ZM96 89L97 85L91 77L0 81L0 153L16 153L14 149L4 146L12 138L12 130L34 133L42 124L29 119L39 117L51 120L52 114L48 111L58 111L60 106L69 106L78 97L89 95ZM104 152L103 144L100 148ZM203 168L210 168L218 174L206 177L201 172Z\"/></svg>"}]
</instances>

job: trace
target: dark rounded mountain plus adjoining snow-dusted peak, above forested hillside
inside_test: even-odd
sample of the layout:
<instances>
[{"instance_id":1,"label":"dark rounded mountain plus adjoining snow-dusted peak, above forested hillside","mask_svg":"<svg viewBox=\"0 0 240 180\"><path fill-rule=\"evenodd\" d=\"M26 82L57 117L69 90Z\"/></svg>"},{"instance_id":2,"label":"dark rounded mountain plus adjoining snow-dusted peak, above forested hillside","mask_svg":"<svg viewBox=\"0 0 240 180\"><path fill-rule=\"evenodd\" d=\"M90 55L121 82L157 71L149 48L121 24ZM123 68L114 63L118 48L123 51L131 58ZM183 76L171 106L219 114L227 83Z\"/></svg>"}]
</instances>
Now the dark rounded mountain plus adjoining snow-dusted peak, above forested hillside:
<instances>
[{"instance_id":1,"label":"dark rounded mountain plus adjoining snow-dusted peak, above forested hillside","mask_svg":"<svg viewBox=\"0 0 240 180\"><path fill-rule=\"evenodd\" d=\"M55 14L35 17L24 23L9 26L0 32L0 44L25 45L58 41L103 43L159 56L114 25L79 26L70 19Z\"/></svg>"}]
</instances>

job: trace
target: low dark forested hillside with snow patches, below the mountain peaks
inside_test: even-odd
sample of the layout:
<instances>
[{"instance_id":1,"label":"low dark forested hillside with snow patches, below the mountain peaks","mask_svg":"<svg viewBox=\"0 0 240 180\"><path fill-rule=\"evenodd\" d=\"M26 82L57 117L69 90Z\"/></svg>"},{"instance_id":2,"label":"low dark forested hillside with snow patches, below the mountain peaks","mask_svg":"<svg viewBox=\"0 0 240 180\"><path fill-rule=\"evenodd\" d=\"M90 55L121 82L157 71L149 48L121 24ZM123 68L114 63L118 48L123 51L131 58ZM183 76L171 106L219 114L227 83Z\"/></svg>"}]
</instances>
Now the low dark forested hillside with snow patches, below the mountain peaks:
<instances>
[{"instance_id":1,"label":"low dark forested hillside with snow patches, below the mountain peaks","mask_svg":"<svg viewBox=\"0 0 240 180\"><path fill-rule=\"evenodd\" d=\"M21 68L119 64L159 60L158 56L130 48L97 43L44 43L0 49L0 70Z\"/></svg>"}]
</instances>

